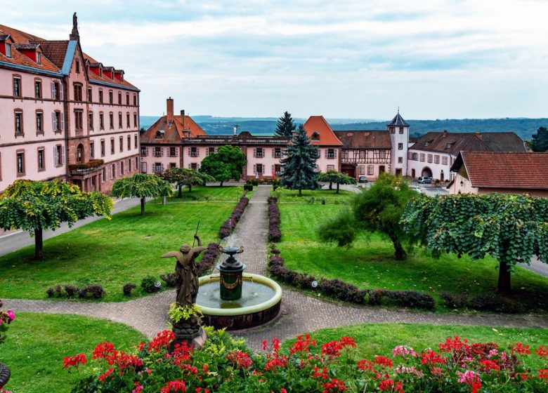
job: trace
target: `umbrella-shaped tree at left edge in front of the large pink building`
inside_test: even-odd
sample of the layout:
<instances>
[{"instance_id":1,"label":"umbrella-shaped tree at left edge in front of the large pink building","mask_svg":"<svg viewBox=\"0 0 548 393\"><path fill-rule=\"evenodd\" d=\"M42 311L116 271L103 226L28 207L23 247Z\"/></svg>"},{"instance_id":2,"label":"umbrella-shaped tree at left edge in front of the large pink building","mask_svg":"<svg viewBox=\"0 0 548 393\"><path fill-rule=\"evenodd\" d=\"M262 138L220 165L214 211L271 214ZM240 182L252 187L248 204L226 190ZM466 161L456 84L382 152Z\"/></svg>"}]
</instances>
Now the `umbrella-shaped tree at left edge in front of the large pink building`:
<instances>
[{"instance_id":1,"label":"umbrella-shaped tree at left edge in front of the large pink building","mask_svg":"<svg viewBox=\"0 0 548 393\"><path fill-rule=\"evenodd\" d=\"M110 220L112 200L100 192L81 192L77 185L56 179L48 182L15 180L0 198L0 228L22 229L34 235L34 258L44 259L42 232L62 222L69 227L90 215Z\"/></svg>"}]
</instances>

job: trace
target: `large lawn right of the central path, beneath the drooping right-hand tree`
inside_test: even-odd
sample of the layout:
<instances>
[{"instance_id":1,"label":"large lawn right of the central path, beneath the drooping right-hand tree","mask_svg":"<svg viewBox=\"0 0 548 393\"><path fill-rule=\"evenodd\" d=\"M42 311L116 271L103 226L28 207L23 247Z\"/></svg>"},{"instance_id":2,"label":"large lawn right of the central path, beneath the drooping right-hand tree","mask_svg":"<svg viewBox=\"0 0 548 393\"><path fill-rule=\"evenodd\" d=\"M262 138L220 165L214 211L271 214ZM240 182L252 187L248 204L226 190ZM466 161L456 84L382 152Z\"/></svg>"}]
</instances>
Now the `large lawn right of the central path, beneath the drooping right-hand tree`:
<instances>
[{"instance_id":1,"label":"large lawn right of the central path, beneath the drooping right-hand tree","mask_svg":"<svg viewBox=\"0 0 548 393\"><path fill-rule=\"evenodd\" d=\"M360 288L422 291L438 300L443 291L452 293L494 293L498 262L493 258L472 260L444 254L431 258L416 251L405 261L395 260L389 240L374 234L360 236L351 248L325 244L317 228L325 218L345 206L280 204L282 241L278 248L290 269L313 274L316 278L341 279ZM516 267L512 274L513 298L529 311L546 311L548 278ZM446 309L438 302L438 310Z\"/></svg>"}]
</instances>

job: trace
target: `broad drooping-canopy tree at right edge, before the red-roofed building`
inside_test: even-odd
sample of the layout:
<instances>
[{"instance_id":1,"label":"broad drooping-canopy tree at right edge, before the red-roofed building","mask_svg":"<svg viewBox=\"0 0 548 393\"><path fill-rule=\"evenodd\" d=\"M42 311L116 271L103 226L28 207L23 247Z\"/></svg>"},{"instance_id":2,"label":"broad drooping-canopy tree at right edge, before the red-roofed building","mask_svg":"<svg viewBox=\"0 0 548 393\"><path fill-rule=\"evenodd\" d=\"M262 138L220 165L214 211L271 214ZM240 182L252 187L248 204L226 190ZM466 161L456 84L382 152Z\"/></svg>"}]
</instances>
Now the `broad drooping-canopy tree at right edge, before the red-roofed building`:
<instances>
[{"instance_id":1,"label":"broad drooping-canopy tree at right edge, before the red-roofed building","mask_svg":"<svg viewBox=\"0 0 548 393\"><path fill-rule=\"evenodd\" d=\"M499 261L498 292L511 290L517 262L533 254L548 263L548 199L509 194L464 194L416 199L401 220L414 241L442 252L486 254Z\"/></svg>"}]
</instances>

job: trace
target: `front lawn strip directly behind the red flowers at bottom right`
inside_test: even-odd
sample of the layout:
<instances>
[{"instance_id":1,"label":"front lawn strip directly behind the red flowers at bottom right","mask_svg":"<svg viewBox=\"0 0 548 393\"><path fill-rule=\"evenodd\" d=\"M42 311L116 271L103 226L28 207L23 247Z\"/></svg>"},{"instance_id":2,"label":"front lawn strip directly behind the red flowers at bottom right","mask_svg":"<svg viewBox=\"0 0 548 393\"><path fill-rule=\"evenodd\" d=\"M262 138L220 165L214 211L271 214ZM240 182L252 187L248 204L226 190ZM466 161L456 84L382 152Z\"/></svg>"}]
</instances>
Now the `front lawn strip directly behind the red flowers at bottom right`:
<instances>
[{"instance_id":1,"label":"front lawn strip directly behind the red flowers at bottom right","mask_svg":"<svg viewBox=\"0 0 548 393\"><path fill-rule=\"evenodd\" d=\"M349 335L355 338L355 359L373 359L375 355L392 357L391 350L397 345L408 345L419 352L422 349L438 350L445 338L458 335L471 342L495 342L500 349L507 349L516 342L530 345L548 345L548 334L535 328L490 328L488 326L437 326L426 324L359 324L339 328L326 328L310 333L318 345ZM283 343L283 348L292 345L295 339ZM534 349L533 349L534 352ZM530 366L546 366L542 358L530 355Z\"/></svg>"}]
</instances>

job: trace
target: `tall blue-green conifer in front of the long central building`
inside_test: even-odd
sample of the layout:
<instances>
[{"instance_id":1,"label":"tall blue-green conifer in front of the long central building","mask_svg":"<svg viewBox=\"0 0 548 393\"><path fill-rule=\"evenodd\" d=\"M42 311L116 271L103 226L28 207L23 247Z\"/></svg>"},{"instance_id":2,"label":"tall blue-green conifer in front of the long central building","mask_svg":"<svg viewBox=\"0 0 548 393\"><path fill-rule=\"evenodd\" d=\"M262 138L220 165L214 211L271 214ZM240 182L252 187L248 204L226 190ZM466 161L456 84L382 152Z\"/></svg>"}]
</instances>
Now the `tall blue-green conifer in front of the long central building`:
<instances>
[{"instance_id":1,"label":"tall blue-green conifer in front of the long central building","mask_svg":"<svg viewBox=\"0 0 548 393\"><path fill-rule=\"evenodd\" d=\"M280 160L282 173L280 185L289 189L298 189L299 196L303 189L319 188L316 182L316 161L320 158L318 147L311 145L310 138L302 125L294 133L291 143L285 152L285 158Z\"/></svg>"}]
</instances>

